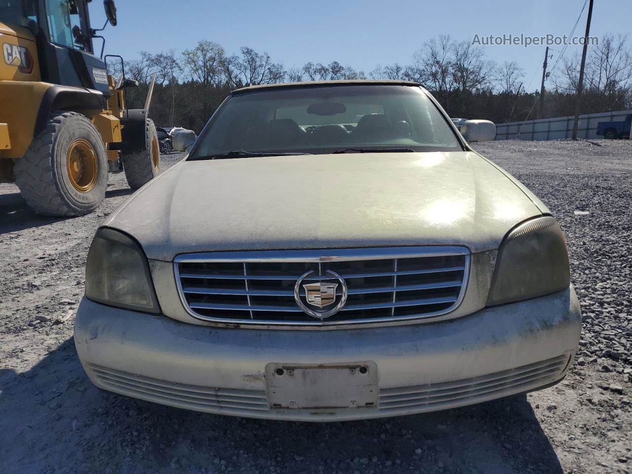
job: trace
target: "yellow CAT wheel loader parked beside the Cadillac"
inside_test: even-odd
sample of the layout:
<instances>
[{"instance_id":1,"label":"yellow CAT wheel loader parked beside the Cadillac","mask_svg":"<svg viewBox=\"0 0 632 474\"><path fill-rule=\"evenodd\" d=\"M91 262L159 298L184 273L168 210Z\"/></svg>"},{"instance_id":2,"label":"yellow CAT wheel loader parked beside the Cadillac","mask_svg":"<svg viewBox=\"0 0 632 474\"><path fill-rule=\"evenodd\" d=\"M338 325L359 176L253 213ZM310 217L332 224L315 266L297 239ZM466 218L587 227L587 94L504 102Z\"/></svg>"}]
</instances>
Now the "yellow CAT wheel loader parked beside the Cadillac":
<instances>
[{"instance_id":1,"label":"yellow CAT wheel loader parked beside the Cadillac","mask_svg":"<svg viewBox=\"0 0 632 474\"><path fill-rule=\"evenodd\" d=\"M158 173L154 123L126 109L125 90L96 56L91 0L0 0L0 182L47 216L80 216L104 199L107 174L137 189ZM105 0L116 25L114 0ZM105 39L103 39L105 42ZM121 66L123 66L123 59ZM107 59L107 56L106 56Z\"/></svg>"}]
</instances>

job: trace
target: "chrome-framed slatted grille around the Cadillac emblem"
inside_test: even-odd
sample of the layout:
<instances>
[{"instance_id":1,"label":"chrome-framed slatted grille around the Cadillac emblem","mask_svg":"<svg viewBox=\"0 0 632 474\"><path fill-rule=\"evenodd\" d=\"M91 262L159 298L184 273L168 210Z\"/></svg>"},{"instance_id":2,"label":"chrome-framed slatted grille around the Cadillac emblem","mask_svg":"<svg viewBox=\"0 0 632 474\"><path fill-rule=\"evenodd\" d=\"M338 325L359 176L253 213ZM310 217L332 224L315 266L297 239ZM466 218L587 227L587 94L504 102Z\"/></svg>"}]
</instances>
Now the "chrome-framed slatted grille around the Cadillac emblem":
<instances>
[{"instance_id":1,"label":"chrome-framed slatted grille around the Cadillac emblem","mask_svg":"<svg viewBox=\"0 0 632 474\"><path fill-rule=\"evenodd\" d=\"M416 319L450 312L465 292L470 255L462 246L269 250L181 255L174 268L181 298L195 317L232 323L349 324ZM304 313L296 280L336 272L348 299L331 317ZM307 277L305 283L334 279ZM340 289L338 289L340 293Z\"/></svg>"}]
</instances>

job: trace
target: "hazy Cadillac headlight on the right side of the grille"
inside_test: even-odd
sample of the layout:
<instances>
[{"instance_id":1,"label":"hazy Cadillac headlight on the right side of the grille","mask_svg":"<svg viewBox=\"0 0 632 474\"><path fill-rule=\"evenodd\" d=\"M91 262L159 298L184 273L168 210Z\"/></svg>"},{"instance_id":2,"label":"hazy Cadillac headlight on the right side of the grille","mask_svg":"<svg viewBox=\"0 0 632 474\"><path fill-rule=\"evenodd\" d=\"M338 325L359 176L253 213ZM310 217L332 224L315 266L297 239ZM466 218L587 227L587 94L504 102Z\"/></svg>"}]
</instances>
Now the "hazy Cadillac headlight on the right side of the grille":
<instances>
[{"instance_id":1,"label":"hazy Cadillac headlight on the right side of the grille","mask_svg":"<svg viewBox=\"0 0 632 474\"><path fill-rule=\"evenodd\" d=\"M498 250L487 306L528 300L568 288L568 252L554 217L514 228Z\"/></svg>"}]
</instances>

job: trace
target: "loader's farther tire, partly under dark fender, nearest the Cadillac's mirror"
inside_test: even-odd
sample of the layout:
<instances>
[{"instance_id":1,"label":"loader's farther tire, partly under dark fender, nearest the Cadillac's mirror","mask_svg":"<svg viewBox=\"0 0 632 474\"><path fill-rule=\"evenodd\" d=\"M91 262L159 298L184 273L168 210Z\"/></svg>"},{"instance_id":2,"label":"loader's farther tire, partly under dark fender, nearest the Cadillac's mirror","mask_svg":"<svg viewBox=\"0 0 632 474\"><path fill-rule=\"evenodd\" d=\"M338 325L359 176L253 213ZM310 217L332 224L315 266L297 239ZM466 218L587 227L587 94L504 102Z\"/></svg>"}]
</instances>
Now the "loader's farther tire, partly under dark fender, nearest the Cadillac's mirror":
<instances>
[{"instance_id":1,"label":"loader's farther tire, partly under dark fender, nearest the Cadillac's mirror","mask_svg":"<svg viewBox=\"0 0 632 474\"><path fill-rule=\"evenodd\" d=\"M145 149L142 152L123 153L123 169L130 188L137 190L156 176L160 166L160 145L154 121L145 121Z\"/></svg>"}]
</instances>

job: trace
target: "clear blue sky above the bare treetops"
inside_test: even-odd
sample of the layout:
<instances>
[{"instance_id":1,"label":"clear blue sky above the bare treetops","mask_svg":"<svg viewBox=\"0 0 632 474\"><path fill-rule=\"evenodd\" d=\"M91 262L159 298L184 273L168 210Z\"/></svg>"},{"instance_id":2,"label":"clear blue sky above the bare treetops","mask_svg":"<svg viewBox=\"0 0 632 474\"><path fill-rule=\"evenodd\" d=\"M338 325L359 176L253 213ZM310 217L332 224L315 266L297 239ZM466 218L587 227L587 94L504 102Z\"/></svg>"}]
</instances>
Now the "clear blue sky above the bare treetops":
<instances>
[{"instance_id":1,"label":"clear blue sky above the bare treetops","mask_svg":"<svg viewBox=\"0 0 632 474\"><path fill-rule=\"evenodd\" d=\"M108 26L104 33L106 54L126 59L136 58L138 51L181 52L199 39L209 39L229 54L241 46L267 51L286 68L336 60L368 73L376 64L410 63L425 40L441 33L458 40L471 40L475 34L568 34L583 4L584 0L116 0L118 25ZM584 33L587 11L586 6L578 36ZM630 13L629 0L595 1L591 36L631 32ZM90 15L93 27L100 27L105 20L101 1L90 4ZM99 45L100 40L95 42ZM497 63L517 61L525 69L527 90L539 88L544 46L484 48ZM554 62L561 47L552 48ZM574 51L581 47L569 46L565 56Z\"/></svg>"}]
</instances>

